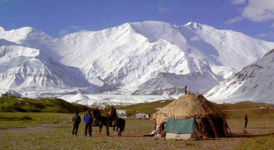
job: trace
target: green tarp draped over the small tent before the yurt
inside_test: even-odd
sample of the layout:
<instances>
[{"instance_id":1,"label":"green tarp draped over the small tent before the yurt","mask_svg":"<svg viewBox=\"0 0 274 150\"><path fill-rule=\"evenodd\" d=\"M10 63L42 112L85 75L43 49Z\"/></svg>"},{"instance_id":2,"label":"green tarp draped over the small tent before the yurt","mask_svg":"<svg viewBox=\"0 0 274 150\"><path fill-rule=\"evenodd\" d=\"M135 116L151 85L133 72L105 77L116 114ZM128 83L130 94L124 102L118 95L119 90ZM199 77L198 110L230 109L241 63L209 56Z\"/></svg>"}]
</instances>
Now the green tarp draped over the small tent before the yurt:
<instances>
[{"instance_id":1,"label":"green tarp draped over the small tent before the yurt","mask_svg":"<svg viewBox=\"0 0 274 150\"><path fill-rule=\"evenodd\" d=\"M178 119L167 119L167 127L166 132L170 133L192 133L193 127L195 123L195 118L190 119L184 119L184 120L178 120Z\"/></svg>"}]
</instances>

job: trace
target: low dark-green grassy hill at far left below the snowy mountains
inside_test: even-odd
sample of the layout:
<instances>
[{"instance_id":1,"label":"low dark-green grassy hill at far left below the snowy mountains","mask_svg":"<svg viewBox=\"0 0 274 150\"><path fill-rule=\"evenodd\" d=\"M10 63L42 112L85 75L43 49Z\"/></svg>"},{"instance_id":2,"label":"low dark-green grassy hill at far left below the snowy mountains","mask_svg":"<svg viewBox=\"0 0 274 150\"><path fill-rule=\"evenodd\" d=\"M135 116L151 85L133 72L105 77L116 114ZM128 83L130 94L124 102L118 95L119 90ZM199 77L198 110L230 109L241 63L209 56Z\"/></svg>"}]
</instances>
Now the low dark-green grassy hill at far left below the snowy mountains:
<instances>
[{"instance_id":1,"label":"low dark-green grassy hill at far left below the snowy mountains","mask_svg":"<svg viewBox=\"0 0 274 150\"><path fill-rule=\"evenodd\" d=\"M83 112L88 109L85 105L69 103L60 98L0 98L0 112L75 113L76 110Z\"/></svg>"}]
</instances>

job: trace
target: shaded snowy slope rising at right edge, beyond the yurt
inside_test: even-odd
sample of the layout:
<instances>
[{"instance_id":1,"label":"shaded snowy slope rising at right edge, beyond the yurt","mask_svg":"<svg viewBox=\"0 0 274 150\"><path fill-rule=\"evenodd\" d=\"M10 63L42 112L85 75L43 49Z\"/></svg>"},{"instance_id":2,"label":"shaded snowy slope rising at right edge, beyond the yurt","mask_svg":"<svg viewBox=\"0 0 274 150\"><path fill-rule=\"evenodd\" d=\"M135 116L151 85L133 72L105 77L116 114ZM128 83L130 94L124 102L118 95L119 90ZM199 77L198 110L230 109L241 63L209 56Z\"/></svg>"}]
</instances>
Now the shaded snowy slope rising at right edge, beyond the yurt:
<instances>
[{"instance_id":1,"label":"shaded snowy slope rising at right edge, beyond the yurt","mask_svg":"<svg viewBox=\"0 0 274 150\"><path fill-rule=\"evenodd\" d=\"M224 80L205 96L213 102L270 102L274 97L274 49Z\"/></svg>"}]
</instances>

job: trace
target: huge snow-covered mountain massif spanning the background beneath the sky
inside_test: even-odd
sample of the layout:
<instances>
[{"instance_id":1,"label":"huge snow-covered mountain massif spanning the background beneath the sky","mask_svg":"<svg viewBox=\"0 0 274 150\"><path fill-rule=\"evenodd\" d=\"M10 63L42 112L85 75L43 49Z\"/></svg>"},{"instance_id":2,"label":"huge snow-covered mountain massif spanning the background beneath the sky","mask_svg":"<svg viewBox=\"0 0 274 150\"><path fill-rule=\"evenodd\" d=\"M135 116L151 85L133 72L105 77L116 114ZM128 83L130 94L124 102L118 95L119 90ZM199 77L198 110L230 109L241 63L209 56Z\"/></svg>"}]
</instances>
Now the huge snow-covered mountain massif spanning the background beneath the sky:
<instances>
[{"instance_id":1,"label":"huge snow-covered mountain massif spanning the background beneath the sky","mask_svg":"<svg viewBox=\"0 0 274 150\"><path fill-rule=\"evenodd\" d=\"M33 90L40 90L38 95L54 95L66 89L66 93L75 89L123 93L121 89L140 90L147 82L155 82L159 73L185 80L176 87L189 84L191 92L203 93L220 76L232 76L274 47L274 42L193 22L184 26L125 23L58 39L32 27L10 31L0 27L0 38L0 88L23 95L35 95ZM186 81L188 76L194 82ZM196 80L203 78L206 86L196 86ZM151 91L172 88L168 84L158 84Z\"/></svg>"}]
</instances>

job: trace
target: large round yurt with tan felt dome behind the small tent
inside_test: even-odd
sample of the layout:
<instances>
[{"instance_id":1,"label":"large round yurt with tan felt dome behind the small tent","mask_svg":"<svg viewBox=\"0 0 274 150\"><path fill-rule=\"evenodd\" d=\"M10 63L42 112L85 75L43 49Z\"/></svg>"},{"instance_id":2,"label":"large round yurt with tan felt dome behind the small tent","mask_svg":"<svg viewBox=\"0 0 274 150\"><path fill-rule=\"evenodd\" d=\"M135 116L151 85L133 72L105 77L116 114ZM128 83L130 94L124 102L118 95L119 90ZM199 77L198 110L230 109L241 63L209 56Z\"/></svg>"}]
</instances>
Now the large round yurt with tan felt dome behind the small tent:
<instances>
[{"instance_id":1,"label":"large round yurt with tan felt dome behind the small tent","mask_svg":"<svg viewBox=\"0 0 274 150\"><path fill-rule=\"evenodd\" d=\"M195 118L200 137L222 138L228 137L228 124L224 114L204 96L191 93L179 97L174 102L159 109L156 113L156 125L172 119Z\"/></svg>"}]
</instances>

